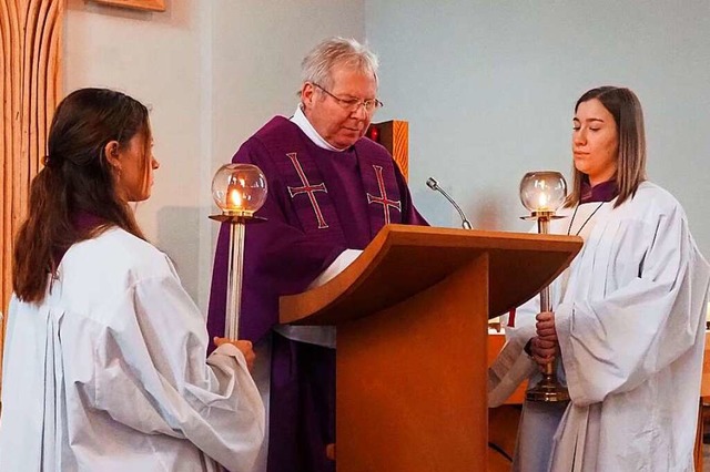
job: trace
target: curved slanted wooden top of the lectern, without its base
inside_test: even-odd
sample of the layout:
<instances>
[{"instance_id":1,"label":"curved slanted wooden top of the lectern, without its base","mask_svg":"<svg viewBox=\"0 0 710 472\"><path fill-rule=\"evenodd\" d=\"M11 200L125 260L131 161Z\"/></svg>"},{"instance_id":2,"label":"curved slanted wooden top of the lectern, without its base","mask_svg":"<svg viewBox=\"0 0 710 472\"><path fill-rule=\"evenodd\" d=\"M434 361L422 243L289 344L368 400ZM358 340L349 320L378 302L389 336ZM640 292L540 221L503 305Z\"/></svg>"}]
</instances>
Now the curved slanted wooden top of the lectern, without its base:
<instances>
[{"instance_id":1,"label":"curved slanted wooden top of the lectern, without its base","mask_svg":"<svg viewBox=\"0 0 710 472\"><path fill-rule=\"evenodd\" d=\"M281 297L280 321L337 325L365 317L436 285L486 254L493 318L532 298L581 246L578 236L386 225L337 277Z\"/></svg>"}]
</instances>

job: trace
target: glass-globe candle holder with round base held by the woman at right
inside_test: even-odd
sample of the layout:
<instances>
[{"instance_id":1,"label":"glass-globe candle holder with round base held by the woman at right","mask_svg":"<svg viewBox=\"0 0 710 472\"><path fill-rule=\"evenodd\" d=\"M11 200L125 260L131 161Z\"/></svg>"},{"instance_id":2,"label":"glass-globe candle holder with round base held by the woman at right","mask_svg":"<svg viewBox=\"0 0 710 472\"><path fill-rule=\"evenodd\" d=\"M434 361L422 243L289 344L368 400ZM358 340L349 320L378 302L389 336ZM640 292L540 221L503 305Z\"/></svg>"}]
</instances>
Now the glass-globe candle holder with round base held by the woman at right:
<instances>
[{"instance_id":1,"label":"glass-globe candle holder with round base held by the woman at right","mask_svg":"<svg viewBox=\"0 0 710 472\"><path fill-rule=\"evenodd\" d=\"M530 212L524 219L537 220L539 234L549 233L549 223L558 218L555 212L562 206L567 197L567 183L559 172L528 172L520 181L520 202ZM540 311L551 311L550 287L540 291ZM555 361L548 362L542 372L542 380L529 389L525 397L529 401L560 402L569 401L569 392L557 380L556 365L559 359L559 346Z\"/></svg>"}]
</instances>

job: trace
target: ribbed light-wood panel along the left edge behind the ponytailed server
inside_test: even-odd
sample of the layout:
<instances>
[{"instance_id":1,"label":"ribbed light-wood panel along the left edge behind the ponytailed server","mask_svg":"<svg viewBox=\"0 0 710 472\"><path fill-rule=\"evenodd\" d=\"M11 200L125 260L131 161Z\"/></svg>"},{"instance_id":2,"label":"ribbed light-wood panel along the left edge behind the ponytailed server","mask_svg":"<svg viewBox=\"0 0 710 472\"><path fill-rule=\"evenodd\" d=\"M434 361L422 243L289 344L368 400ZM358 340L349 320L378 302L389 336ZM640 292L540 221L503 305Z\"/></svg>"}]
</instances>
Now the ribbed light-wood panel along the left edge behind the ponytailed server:
<instances>
[{"instance_id":1,"label":"ribbed light-wood panel along the left edge behind the ponytailed server","mask_svg":"<svg viewBox=\"0 0 710 472\"><path fill-rule=\"evenodd\" d=\"M0 0L0 311L10 299L13 236L28 211L61 94L65 0ZM0 369L7 317L0 329ZM0 371L1 378L1 371Z\"/></svg>"}]
</instances>

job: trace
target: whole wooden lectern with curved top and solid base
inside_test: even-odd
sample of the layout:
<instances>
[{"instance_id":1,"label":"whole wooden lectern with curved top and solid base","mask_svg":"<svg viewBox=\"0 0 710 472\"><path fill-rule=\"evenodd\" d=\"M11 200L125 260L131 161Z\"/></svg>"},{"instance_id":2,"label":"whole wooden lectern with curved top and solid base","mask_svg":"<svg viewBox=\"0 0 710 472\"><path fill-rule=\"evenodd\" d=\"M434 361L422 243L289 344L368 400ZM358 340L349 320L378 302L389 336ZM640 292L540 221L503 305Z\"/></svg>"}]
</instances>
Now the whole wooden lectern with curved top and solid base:
<instances>
[{"instance_id":1,"label":"whole wooden lectern with curved top and solid base","mask_svg":"<svg viewBox=\"0 0 710 472\"><path fill-rule=\"evenodd\" d=\"M337 326L338 472L486 469L487 320L531 298L575 236L388 225L281 322Z\"/></svg>"}]
</instances>

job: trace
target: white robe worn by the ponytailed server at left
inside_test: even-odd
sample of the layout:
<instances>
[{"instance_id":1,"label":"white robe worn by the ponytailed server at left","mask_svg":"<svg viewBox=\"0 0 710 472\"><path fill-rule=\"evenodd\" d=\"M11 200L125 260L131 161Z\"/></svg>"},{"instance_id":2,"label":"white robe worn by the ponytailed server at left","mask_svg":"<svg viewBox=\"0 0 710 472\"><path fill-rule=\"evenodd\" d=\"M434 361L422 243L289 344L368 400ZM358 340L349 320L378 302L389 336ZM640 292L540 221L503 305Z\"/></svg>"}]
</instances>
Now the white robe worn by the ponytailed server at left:
<instances>
[{"instance_id":1,"label":"white robe worn by the ponytailed server at left","mask_svg":"<svg viewBox=\"0 0 710 472\"><path fill-rule=\"evenodd\" d=\"M8 316L0 471L252 470L265 419L244 357L205 363L204 316L150 244L75 244L41 305Z\"/></svg>"}]
</instances>

